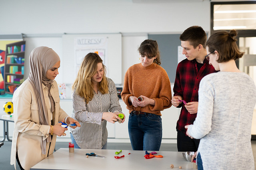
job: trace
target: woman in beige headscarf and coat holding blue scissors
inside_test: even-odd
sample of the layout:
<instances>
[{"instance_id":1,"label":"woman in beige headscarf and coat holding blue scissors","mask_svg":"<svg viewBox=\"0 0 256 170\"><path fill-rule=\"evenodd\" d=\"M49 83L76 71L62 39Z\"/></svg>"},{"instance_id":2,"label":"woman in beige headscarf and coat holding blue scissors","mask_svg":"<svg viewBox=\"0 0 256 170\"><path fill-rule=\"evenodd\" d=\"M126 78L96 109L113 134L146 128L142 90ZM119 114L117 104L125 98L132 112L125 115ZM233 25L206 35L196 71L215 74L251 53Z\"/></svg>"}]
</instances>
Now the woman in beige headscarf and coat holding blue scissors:
<instances>
[{"instance_id":1,"label":"woman in beige headscarf and coat holding blue scissors","mask_svg":"<svg viewBox=\"0 0 256 170\"><path fill-rule=\"evenodd\" d=\"M14 92L14 134L11 164L16 159L21 169L32 166L53 153L56 135L65 136L59 121L80 124L60 109L60 97L55 77L60 57L48 47L37 47L30 54L28 79Z\"/></svg>"}]
</instances>

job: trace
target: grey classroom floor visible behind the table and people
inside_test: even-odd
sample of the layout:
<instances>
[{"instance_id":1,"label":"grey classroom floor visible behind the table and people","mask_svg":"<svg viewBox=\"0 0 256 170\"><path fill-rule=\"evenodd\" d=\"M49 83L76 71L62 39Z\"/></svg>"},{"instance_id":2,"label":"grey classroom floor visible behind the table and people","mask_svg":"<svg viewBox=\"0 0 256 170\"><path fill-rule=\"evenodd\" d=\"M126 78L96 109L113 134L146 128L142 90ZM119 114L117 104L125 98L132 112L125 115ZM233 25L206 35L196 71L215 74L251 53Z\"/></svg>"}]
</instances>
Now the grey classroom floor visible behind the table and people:
<instances>
[{"instance_id":1,"label":"grey classroom floor visible behind the table and people","mask_svg":"<svg viewBox=\"0 0 256 170\"><path fill-rule=\"evenodd\" d=\"M4 142L0 147L0 170L15 170L13 165L10 165L10 152L12 142ZM56 150L59 148L67 148L68 142L56 142ZM132 150L130 143L108 143L107 149L114 150ZM176 144L161 144L162 151L178 151ZM254 156L254 164L256 167L256 140L252 140L252 151ZM17 164L18 165L18 164ZM17 168L19 170L19 168Z\"/></svg>"}]
</instances>

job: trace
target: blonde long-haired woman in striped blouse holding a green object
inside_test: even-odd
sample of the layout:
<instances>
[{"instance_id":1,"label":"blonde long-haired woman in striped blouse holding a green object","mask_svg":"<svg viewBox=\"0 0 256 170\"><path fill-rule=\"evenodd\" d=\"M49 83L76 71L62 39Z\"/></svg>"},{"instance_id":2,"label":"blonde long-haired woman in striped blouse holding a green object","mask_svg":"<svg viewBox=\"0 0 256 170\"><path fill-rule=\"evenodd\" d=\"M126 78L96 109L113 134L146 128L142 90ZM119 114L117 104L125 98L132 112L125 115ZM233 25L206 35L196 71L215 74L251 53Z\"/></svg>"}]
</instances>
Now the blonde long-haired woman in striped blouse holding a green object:
<instances>
[{"instance_id":1,"label":"blonde long-haired woman in striped blouse holding a green object","mask_svg":"<svg viewBox=\"0 0 256 170\"><path fill-rule=\"evenodd\" d=\"M97 53L88 53L78 71L73 89L72 118L81 127L71 129L71 140L75 148L106 149L107 121L122 120L116 86L106 77L106 67Z\"/></svg>"}]
</instances>

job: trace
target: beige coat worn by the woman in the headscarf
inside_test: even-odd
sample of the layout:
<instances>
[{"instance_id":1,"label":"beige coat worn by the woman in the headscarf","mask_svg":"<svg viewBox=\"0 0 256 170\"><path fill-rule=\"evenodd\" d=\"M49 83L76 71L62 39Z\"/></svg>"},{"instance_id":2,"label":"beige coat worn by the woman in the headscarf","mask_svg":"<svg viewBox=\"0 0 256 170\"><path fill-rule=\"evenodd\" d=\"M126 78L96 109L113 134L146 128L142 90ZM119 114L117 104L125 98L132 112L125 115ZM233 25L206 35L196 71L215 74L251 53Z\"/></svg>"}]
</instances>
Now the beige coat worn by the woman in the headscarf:
<instances>
[{"instance_id":1,"label":"beige coat worn by the woman in the headscarf","mask_svg":"<svg viewBox=\"0 0 256 170\"><path fill-rule=\"evenodd\" d=\"M56 134L52 137L52 142L46 142L46 154L42 154L41 144L49 134L48 129L51 125L51 112L48 99L48 88L42 84L44 101L48 111L49 125L40 125L38 105L32 85L28 81L24 81L22 85L14 92L12 102L14 105L14 132L12 137L11 164L16 168L16 152L20 164L24 169L30 169L32 166L43 160L53 153ZM52 83L50 93L55 102L55 117L53 117L54 125L62 121L68 115L60 109L60 97L58 85L56 81ZM43 97L43 96L42 96ZM49 150L50 146L50 150Z\"/></svg>"}]
</instances>

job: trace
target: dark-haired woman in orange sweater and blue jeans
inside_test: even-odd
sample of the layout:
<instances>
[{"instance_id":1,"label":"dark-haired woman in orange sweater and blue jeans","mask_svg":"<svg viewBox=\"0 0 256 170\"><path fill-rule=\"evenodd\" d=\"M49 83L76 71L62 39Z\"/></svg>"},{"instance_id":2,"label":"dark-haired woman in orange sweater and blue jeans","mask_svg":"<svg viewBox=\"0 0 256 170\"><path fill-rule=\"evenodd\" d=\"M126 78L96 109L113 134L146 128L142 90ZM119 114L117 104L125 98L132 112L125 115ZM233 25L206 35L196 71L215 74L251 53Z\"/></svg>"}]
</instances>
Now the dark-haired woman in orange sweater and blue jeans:
<instances>
[{"instance_id":1,"label":"dark-haired woman in orange sweater and blue jeans","mask_svg":"<svg viewBox=\"0 0 256 170\"><path fill-rule=\"evenodd\" d=\"M159 150L162 141L160 111L172 105L170 80L160 66L156 41L145 40L138 51L141 63L127 70L121 93L130 113L130 141L133 150ZM142 97L142 101L138 97Z\"/></svg>"}]
</instances>

